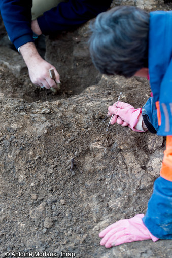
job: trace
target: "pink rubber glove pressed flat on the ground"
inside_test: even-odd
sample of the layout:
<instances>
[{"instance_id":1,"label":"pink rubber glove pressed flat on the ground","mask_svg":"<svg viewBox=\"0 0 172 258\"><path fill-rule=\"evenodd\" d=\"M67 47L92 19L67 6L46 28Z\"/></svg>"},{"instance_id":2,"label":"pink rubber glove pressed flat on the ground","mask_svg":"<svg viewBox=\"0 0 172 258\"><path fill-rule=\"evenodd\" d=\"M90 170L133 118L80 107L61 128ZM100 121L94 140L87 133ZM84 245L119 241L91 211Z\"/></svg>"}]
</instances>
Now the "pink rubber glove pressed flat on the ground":
<instances>
[{"instance_id":1,"label":"pink rubber glove pressed flat on the ground","mask_svg":"<svg viewBox=\"0 0 172 258\"><path fill-rule=\"evenodd\" d=\"M138 214L131 219L120 220L108 226L99 233L99 237L103 237L100 245L110 248L134 241L149 239L152 239L153 242L157 241L159 238L153 236L147 229L142 221L143 217L144 214Z\"/></svg>"}]
</instances>

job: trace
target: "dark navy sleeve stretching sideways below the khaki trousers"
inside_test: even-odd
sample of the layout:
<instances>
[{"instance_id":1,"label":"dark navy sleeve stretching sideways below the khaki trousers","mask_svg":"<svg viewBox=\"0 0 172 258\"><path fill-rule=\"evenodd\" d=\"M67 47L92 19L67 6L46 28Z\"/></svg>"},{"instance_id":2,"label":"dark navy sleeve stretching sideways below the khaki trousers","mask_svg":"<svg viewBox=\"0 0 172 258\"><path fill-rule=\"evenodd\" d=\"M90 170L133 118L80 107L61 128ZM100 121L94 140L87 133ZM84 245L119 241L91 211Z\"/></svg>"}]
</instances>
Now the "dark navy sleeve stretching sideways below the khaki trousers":
<instances>
[{"instance_id":1,"label":"dark navy sleeve stretching sideways below the khaki trousers","mask_svg":"<svg viewBox=\"0 0 172 258\"><path fill-rule=\"evenodd\" d=\"M43 34L48 35L58 31L70 30L74 26L85 23L99 13L106 11L112 0L69 0L61 2L57 7L45 12L39 17L38 24Z\"/></svg>"}]
</instances>

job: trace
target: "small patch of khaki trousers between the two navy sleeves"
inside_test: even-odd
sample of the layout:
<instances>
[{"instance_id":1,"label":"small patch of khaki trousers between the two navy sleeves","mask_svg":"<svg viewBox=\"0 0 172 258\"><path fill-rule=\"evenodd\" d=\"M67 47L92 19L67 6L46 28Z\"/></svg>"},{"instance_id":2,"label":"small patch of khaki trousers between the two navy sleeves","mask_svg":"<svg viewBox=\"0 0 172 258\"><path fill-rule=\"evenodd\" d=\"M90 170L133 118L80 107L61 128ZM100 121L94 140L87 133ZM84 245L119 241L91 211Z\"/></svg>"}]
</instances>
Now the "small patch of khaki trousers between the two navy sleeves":
<instances>
[{"instance_id":1,"label":"small patch of khaki trousers between the two navy sleeves","mask_svg":"<svg viewBox=\"0 0 172 258\"><path fill-rule=\"evenodd\" d=\"M32 20L36 20L44 12L56 7L62 1L65 0L33 0L31 8Z\"/></svg>"}]
</instances>

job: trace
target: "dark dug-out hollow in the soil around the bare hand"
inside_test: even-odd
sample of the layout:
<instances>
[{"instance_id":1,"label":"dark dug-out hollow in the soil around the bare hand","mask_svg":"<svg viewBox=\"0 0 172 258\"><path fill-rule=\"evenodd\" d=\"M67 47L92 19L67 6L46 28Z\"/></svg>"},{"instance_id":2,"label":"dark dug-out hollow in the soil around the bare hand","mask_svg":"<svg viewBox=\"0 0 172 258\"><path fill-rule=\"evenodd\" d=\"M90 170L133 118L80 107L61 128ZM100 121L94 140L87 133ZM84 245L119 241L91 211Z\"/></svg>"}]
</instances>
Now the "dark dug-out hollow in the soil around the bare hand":
<instances>
[{"instance_id":1,"label":"dark dug-out hollow in the soil around the bare hand","mask_svg":"<svg viewBox=\"0 0 172 258\"><path fill-rule=\"evenodd\" d=\"M0 40L0 61L2 63L0 67L1 95L8 98L21 98L29 103L39 100L52 102L80 94L90 85L97 84L101 75L92 64L86 43L81 42L81 46L79 46L78 42L74 41L70 50L66 50L68 48L66 46L64 50L60 49L62 54L59 54L57 49L63 45L63 42L66 44L66 38L64 40L64 37L52 43L51 41L48 42L51 46L47 47L47 51L44 37L40 37L35 42L40 55L54 65L60 74L60 90L54 93L31 83L24 61L6 34ZM68 53L66 54L67 51ZM19 72L17 66L21 66Z\"/></svg>"}]
</instances>

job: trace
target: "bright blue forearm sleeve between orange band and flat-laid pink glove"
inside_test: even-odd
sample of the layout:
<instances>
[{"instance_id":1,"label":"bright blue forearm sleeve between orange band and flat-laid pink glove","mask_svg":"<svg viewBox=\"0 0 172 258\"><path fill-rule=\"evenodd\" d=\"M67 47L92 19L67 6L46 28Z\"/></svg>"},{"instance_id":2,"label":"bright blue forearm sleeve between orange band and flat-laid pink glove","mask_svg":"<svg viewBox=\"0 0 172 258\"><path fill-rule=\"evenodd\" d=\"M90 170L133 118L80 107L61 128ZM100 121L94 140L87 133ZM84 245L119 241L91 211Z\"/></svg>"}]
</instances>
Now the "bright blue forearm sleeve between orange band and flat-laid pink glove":
<instances>
[{"instance_id":1,"label":"bright blue forearm sleeve between orange band and flat-laid pink glove","mask_svg":"<svg viewBox=\"0 0 172 258\"><path fill-rule=\"evenodd\" d=\"M148 209L142 219L149 231L160 239L172 239L172 182L162 177L155 180Z\"/></svg>"}]
</instances>

